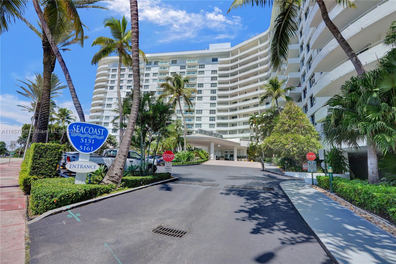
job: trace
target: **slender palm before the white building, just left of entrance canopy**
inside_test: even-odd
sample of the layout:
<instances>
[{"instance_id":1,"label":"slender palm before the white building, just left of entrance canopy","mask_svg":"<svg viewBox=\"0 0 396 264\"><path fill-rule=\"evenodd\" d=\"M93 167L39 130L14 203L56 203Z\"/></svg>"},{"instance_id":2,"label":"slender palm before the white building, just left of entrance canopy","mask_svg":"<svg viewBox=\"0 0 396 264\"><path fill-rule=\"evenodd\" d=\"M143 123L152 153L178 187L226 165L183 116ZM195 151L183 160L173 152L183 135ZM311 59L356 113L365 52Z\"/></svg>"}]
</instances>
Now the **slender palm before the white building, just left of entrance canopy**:
<instances>
[{"instance_id":1,"label":"slender palm before the white building, just left of entrance canopy","mask_svg":"<svg viewBox=\"0 0 396 264\"><path fill-rule=\"evenodd\" d=\"M188 84L188 78L181 76L179 73L173 75L173 77L166 77L166 82L161 84L160 87L164 88L164 94L160 95L160 98L166 98L172 96L169 99L169 104L172 106L173 110L179 105L181 116L184 122L184 150L187 148L186 137L187 137L187 126L186 119L183 114L183 108L181 107L180 100L183 99L184 105L188 106L188 111L191 111L192 103L190 101L191 93L197 92L195 88L186 88L185 85Z\"/></svg>"}]
</instances>

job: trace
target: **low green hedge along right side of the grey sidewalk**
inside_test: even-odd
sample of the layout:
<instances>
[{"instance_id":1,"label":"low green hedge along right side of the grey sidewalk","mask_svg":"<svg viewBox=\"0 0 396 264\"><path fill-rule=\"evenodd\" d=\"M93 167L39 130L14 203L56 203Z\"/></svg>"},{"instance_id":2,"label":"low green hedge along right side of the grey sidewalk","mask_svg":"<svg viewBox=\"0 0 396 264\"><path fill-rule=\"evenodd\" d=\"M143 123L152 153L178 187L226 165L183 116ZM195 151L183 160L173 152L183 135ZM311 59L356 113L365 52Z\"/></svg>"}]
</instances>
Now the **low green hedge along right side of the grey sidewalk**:
<instances>
[{"instance_id":1,"label":"low green hedge along right side of the grey sidewalk","mask_svg":"<svg viewBox=\"0 0 396 264\"><path fill-rule=\"evenodd\" d=\"M318 176L316 179L319 187L330 189L329 176ZM374 213L388 215L396 221L396 187L334 177L333 190L337 195L358 206Z\"/></svg>"}]
</instances>

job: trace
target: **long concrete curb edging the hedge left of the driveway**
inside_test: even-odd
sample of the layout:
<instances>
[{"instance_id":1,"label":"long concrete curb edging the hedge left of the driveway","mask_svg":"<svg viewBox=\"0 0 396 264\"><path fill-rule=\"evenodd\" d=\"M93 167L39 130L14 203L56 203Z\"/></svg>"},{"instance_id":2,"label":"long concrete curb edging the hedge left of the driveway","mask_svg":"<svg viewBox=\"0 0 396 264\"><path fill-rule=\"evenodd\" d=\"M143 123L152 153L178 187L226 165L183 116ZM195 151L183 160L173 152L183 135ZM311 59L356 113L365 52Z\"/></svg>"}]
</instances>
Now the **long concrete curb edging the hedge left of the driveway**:
<instances>
[{"instance_id":1,"label":"long concrete curb edging the hedge left of the driveway","mask_svg":"<svg viewBox=\"0 0 396 264\"><path fill-rule=\"evenodd\" d=\"M82 202L79 202L79 203L74 203L72 205L67 205L67 206L59 207L57 209L52 209L52 210L49 210L49 211L45 212L44 214L40 214L39 216L33 218L32 220L28 221L27 224L29 225L31 223L34 223L34 222L36 222L36 221L38 221L38 220L40 220L42 218L46 218L47 216L51 216L53 214L59 214L61 212L65 212L67 210L71 210L71 209L74 209L74 208L77 208L77 207L81 207L81 206L84 206L84 205L87 205L87 204L91 204L91 203L96 203L96 202L99 202L99 201L102 201L102 200L105 200L105 199L108 199L108 198L111 198L111 197L122 195L124 193L130 193L132 191L137 191L137 190L145 189L147 187L151 187L151 186L154 186L154 185L164 184L164 183L173 182L173 181L177 181L177 180L179 180L179 177L173 177L173 178L170 178L168 180L163 180L163 181L160 181L160 182L154 182L152 184L148 184L148 185L144 185L144 186L128 189L128 190L125 190L125 191L120 191L118 193L111 193L111 194L105 195L103 197L93 198L93 199L82 201Z\"/></svg>"}]
</instances>

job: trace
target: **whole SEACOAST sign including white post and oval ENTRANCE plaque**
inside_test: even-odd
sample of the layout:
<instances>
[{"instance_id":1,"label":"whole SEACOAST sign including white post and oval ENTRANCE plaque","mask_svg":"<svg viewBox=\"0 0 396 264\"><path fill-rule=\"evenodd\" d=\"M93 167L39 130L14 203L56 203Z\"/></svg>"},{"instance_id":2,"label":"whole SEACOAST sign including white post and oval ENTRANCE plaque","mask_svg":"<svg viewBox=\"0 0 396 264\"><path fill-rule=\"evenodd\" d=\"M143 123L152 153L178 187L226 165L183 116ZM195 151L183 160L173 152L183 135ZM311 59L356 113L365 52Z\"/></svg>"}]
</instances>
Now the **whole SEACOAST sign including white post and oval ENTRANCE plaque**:
<instances>
[{"instance_id":1,"label":"whole SEACOAST sign including white post and oval ENTRANCE plaque","mask_svg":"<svg viewBox=\"0 0 396 264\"><path fill-rule=\"evenodd\" d=\"M97 124L73 122L67 126L66 134L72 147L80 152L78 161L68 163L66 168L76 172L74 184L85 184L87 172L93 172L99 167L89 161L89 155L105 143L109 130Z\"/></svg>"}]
</instances>

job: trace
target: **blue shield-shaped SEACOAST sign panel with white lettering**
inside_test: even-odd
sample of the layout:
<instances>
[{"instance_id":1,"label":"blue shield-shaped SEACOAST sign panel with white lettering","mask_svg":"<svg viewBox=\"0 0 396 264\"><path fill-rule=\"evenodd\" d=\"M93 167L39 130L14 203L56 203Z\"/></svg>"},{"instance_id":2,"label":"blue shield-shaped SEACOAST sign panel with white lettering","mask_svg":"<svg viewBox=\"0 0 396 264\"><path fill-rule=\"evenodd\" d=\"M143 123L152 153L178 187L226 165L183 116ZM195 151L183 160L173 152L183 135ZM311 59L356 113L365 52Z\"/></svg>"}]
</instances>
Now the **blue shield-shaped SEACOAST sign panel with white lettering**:
<instances>
[{"instance_id":1,"label":"blue shield-shaped SEACOAST sign panel with white lettering","mask_svg":"<svg viewBox=\"0 0 396 264\"><path fill-rule=\"evenodd\" d=\"M105 143L109 130L104 126L87 122L74 122L67 126L70 144L81 153L93 153Z\"/></svg>"}]
</instances>

